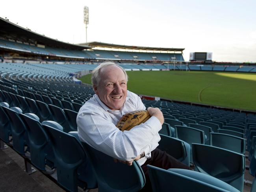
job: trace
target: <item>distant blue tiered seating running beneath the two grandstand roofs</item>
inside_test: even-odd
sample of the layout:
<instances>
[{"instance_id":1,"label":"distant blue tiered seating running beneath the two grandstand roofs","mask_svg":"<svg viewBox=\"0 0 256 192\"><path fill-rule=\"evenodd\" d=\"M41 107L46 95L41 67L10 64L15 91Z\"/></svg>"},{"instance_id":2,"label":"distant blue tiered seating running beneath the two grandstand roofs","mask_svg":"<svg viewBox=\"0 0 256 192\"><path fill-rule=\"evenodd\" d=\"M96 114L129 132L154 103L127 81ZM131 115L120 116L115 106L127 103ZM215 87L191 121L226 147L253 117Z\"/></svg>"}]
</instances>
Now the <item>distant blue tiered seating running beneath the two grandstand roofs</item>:
<instances>
[{"instance_id":1,"label":"distant blue tiered seating running beneath the two grandstand roofs","mask_svg":"<svg viewBox=\"0 0 256 192\"><path fill-rule=\"evenodd\" d=\"M67 50L63 48L45 48L35 45L23 44L19 42L0 39L0 48L8 50L17 50L20 52L28 52L39 55L51 55L58 57L70 57L79 59L125 59L125 60L161 60L171 61L172 57L176 57L177 61L184 61L182 54L167 53L146 53L146 52L117 52L106 50Z\"/></svg>"}]
</instances>

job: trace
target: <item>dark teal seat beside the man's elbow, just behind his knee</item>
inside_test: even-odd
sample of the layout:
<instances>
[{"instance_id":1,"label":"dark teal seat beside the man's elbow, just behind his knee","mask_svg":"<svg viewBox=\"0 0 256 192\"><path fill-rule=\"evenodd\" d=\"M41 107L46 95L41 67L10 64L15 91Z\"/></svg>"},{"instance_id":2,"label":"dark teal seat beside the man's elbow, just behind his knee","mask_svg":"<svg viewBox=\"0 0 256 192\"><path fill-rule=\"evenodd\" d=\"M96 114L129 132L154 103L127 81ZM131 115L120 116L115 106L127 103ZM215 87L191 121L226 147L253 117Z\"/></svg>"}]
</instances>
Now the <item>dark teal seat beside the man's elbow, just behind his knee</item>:
<instances>
[{"instance_id":1,"label":"dark teal seat beside the man's elbow, just behind his knee","mask_svg":"<svg viewBox=\"0 0 256 192\"><path fill-rule=\"evenodd\" d=\"M158 148L189 166L190 145L178 138L161 135Z\"/></svg>"}]
</instances>

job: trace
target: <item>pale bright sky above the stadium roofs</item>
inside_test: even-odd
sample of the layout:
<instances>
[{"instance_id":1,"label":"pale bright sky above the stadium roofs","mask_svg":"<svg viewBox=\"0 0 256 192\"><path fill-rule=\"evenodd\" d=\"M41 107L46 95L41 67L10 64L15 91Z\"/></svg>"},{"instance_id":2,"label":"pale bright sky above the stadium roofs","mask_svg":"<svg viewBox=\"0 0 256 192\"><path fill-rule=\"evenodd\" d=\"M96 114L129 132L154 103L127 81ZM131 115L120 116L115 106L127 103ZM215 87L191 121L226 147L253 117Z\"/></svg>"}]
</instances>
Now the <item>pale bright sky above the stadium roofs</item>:
<instances>
[{"instance_id":1,"label":"pale bright sky above the stadium roofs","mask_svg":"<svg viewBox=\"0 0 256 192\"><path fill-rule=\"evenodd\" d=\"M256 62L255 0L8 0L0 17L69 43L87 41L212 52L213 61Z\"/></svg>"}]
</instances>

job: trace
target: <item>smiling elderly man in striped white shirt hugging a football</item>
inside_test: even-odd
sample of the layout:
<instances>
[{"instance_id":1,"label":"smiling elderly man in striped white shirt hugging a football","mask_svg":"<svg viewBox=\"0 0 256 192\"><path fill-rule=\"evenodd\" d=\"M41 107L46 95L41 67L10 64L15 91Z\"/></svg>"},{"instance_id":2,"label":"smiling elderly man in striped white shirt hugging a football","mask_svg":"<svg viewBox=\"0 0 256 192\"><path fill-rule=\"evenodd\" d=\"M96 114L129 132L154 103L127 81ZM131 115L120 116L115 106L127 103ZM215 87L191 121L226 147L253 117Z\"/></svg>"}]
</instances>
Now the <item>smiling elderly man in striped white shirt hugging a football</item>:
<instances>
[{"instance_id":1,"label":"smiling elderly man in striped white shirt hugging a football","mask_svg":"<svg viewBox=\"0 0 256 192\"><path fill-rule=\"evenodd\" d=\"M130 131L120 131L115 125L129 112L146 109L136 94L127 90L128 76L115 63L99 65L92 74L95 95L80 109L77 116L78 135L96 150L131 165L138 161L146 177L145 191L150 191L147 164L160 168L184 168L185 164L157 148L158 131L163 124L160 109L148 107L150 118Z\"/></svg>"}]
</instances>

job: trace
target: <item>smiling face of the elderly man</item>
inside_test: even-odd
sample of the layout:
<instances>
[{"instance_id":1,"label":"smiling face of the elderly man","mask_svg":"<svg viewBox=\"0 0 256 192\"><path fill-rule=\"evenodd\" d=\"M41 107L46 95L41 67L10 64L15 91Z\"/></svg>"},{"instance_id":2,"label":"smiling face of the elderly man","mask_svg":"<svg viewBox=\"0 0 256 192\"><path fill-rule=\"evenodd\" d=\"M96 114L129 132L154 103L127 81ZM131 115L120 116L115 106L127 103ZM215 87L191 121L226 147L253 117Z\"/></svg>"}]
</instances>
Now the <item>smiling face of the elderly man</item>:
<instances>
[{"instance_id":1,"label":"smiling face of the elderly man","mask_svg":"<svg viewBox=\"0 0 256 192\"><path fill-rule=\"evenodd\" d=\"M119 110L126 101L127 85L124 72L115 65L100 69L98 85L93 85L100 100L112 110Z\"/></svg>"}]
</instances>

